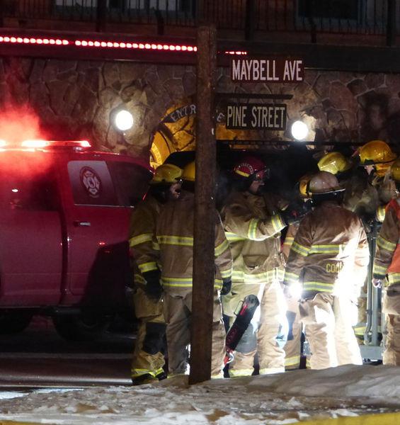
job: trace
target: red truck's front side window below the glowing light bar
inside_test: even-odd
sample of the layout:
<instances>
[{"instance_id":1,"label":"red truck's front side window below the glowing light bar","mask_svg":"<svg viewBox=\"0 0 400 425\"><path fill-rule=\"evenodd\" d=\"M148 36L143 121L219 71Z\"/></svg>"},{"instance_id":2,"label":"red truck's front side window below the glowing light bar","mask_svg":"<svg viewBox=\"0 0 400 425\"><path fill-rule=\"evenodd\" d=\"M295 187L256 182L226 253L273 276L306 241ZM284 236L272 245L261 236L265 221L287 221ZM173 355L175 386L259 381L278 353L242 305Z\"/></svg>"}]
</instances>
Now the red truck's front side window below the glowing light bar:
<instances>
[{"instance_id":1,"label":"red truck's front side window below the glowing light bar","mask_svg":"<svg viewBox=\"0 0 400 425\"><path fill-rule=\"evenodd\" d=\"M8 210L56 210L55 190L50 181L30 176L8 175L0 181L0 208Z\"/></svg>"}]
</instances>

